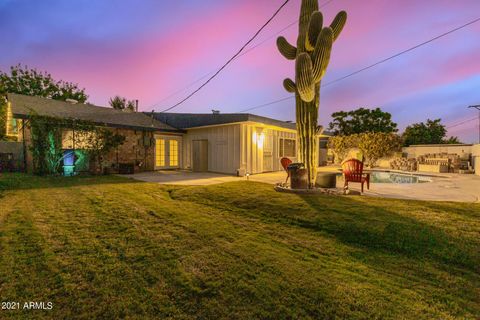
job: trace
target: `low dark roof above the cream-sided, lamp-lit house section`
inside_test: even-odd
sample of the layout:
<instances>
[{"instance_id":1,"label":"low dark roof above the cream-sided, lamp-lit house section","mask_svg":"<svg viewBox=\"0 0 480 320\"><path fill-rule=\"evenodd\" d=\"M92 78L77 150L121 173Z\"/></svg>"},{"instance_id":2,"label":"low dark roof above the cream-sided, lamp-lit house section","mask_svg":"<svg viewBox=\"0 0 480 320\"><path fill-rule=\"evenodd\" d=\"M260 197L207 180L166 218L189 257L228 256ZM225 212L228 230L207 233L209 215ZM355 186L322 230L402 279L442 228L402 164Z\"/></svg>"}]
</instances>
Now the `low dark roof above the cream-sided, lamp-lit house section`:
<instances>
[{"instance_id":1,"label":"low dark roof above the cream-sided, lamp-lit house section","mask_svg":"<svg viewBox=\"0 0 480 320\"><path fill-rule=\"evenodd\" d=\"M145 114L151 115L152 113L146 112ZM153 113L153 117L158 121L179 129L191 129L248 121L277 126L285 129L296 129L295 123L257 116L250 113Z\"/></svg>"}]
</instances>

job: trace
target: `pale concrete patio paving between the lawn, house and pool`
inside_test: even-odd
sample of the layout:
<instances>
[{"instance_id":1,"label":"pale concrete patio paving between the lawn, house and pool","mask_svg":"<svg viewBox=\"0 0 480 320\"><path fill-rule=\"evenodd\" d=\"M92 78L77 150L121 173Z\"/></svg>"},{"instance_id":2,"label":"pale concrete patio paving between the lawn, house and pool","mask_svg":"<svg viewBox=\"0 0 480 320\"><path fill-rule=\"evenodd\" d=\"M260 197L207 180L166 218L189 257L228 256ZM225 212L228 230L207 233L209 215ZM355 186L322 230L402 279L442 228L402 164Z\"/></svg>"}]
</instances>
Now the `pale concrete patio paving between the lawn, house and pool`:
<instances>
[{"instance_id":1,"label":"pale concrete patio paving between the lawn, house and pool","mask_svg":"<svg viewBox=\"0 0 480 320\"><path fill-rule=\"evenodd\" d=\"M320 171L336 172L335 167L322 167ZM244 181L246 177L235 177L216 173L197 173L189 171L157 171L138 173L134 179L171 185L211 185L231 181ZM250 181L276 184L285 181L285 172L262 173L250 176ZM374 197L386 197L429 201L480 202L480 176L465 174L436 174L432 182L416 184L371 183L370 190L364 194ZM343 181L337 181L337 187L343 187ZM360 184L352 183L350 188L360 190Z\"/></svg>"}]
</instances>

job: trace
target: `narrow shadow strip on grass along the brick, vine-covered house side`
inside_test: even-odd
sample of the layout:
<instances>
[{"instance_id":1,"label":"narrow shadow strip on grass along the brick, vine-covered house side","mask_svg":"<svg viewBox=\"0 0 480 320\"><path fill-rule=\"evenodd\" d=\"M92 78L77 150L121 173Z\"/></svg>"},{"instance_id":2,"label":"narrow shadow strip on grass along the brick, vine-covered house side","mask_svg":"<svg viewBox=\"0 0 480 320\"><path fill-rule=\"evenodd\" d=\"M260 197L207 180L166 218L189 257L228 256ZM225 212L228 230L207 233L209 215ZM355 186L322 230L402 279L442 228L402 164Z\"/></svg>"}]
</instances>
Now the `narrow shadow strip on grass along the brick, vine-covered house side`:
<instances>
[{"instance_id":1,"label":"narrow shadow strip on grass along the brick, vine-covered house side","mask_svg":"<svg viewBox=\"0 0 480 320\"><path fill-rule=\"evenodd\" d=\"M127 176L75 176L75 177L40 177L25 173L0 174L0 196L2 192L27 189L70 188L101 184L142 183L128 179Z\"/></svg>"}]
</instances>

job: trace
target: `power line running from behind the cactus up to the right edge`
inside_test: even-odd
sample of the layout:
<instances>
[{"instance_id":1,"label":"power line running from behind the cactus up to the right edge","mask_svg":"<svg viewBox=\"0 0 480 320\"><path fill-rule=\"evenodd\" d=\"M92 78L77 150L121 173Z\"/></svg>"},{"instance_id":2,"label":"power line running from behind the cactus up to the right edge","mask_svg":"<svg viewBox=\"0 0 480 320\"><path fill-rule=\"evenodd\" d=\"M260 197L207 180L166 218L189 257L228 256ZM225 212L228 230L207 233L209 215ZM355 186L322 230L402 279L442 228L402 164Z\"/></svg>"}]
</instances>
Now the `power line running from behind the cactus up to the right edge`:
<instances>
[{"instance_id":1,"label":"power line running from behind the cactus up to the right edge","mask_svg":"<svg viewBox=\"0 0 480 320\"><path fill-rule=\"evenodd\" d=\"M460 30L460 29L463 29L463 28L465 28L465 27L467 27L467 26L469 26L469 25L472 25L472 24L474 24L474 23L476 23L476 22L478 22L478 21L480 21L480 18L477 18L477 19L472 20L472 21L470 21L470 22L468 22L468 23L465 23L465 24L463 24L463 25L461 25L461 26L459 26L459 27L457 27L457 28L455 28L455 29L452 29L452 30L450 30L450 31L447 31L447 32L445 32L445 33L442 33L442 34L440 34L440 35L438 35L438 36L436 36L436 37L434 37L434 38L431 38L431 39L429 39L429 40L427 40L427 41L424 41L424 42L422 42L422 43L420 43L420 44L417 44L417 45L415 45L415 46L413 46L413 47L411 47L411 48L408 48L408 49L403 50L403 51L401 51L401 52L399 52L399 53L396 53L396 54L394 54L394 55L392 55L392 56L390 56L390 57L388 57L388 58L382 59L382 60L380 60L380 61L378 61L378 62L375 62L375 63L373 63L373 64L371 64L371 65L369 65L369 66L366 66L366 67L364 67L364 68L361 68L361 69L359 69L359 70L357 70L357 71L354 71L354 72L352 72L352 73L350 73L350 74L347 74L347 75L345 75L345 76L343 76L343 77L340 77L340 78L337 78L337 79L332 80L332 81L330 81L330 82L327 82L327 83L325 83L325 84L322 84L321 87L323 88L323 87L329 86L329 85L334 84L334 83L336 83L336 82L339 82L339 81L345 80L345 79L347 79L347 78L349 78L349 77L352 77L352 76L354 76L354 75L356 75L356 74L358 74L358 73L360 73L360 72L363 72L363 71L365 71L365 70L368 70L368 69L371 69L371 68L373 68L373 67L376 67L376 66L378 66L379 64L385 63L385 62L387 62L387 61L389 61L389 60L392 60L392 59L394 59L394 58L397 58L397 57L399 57L399 56L401 56L401 55L403 55L403 54L405 54L405 53L408 53L408 52L410 52L410 51L413 51L413 50L415 50L415 49L418 49L419 47L422 47L422 46L424 46L424 45L426 45L426 44L429 44L429 43L431 43L431 42L433 42L433 41L435 41L435 40L438 40L438 39L440 39L440 38L442 38L442 37L445 37L445 36L447 36L447 35L449 35L449 34L451 34L451 33L453 33L453 32L456 32L456 31L458 31L458 30ZM268 102L268 103L264 103L264 104L261 104L261 105L258 105L258 106L250 107L250 108L244 109L244 110L242 110L242 111L238 111L238 112L247 112L247 111L251 111L251 110L263 108L263 107L266 107L266 106L269 106L269 105L272 105L272 104L276 104L276 103L279 103L279 102L282 102L282 101L285 101L285 100L293 99L293 98L295 98L295 96L288 96L288 97L281 98L281 99L278 99L278 100L275 100L275 101L272 101L272 102Z\"/></svg>"}]
</instances>

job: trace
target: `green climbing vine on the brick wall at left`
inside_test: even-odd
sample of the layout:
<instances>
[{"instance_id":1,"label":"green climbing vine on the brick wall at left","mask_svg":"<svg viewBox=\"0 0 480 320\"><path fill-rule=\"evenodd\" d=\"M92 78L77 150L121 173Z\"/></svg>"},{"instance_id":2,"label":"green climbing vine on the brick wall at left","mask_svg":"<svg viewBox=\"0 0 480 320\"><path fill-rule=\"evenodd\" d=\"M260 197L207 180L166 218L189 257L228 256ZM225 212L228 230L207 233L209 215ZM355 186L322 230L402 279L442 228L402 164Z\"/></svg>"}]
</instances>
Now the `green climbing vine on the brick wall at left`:
<instances>
[{"instance_id":1,"label":"green climbing vine on the brick wall at left","mask_svg":"<svg viewBox=\"0 0 480 320\"><path fill-rule=\"evenodd\" d=\"M30 113L29 126L33 172L38 175L55 175L61 172L64 140L73 140L71 142L85 151L89 161L96 168L101 167L101 161L105 154L125 141L123 135L116 134L109 128L99 127L90 121ZM75 134L64 135L66 131L72 131Z\"/></svg>"}]
</instances>

